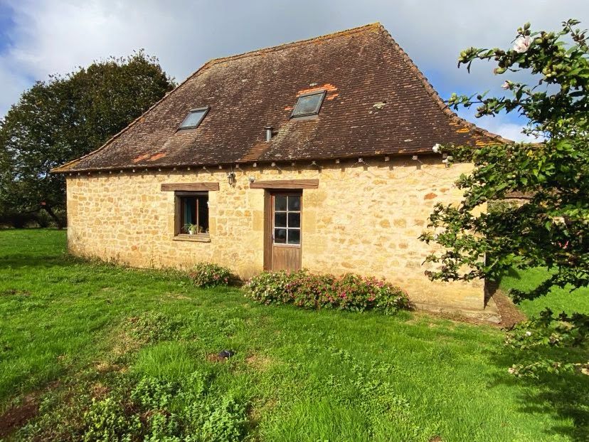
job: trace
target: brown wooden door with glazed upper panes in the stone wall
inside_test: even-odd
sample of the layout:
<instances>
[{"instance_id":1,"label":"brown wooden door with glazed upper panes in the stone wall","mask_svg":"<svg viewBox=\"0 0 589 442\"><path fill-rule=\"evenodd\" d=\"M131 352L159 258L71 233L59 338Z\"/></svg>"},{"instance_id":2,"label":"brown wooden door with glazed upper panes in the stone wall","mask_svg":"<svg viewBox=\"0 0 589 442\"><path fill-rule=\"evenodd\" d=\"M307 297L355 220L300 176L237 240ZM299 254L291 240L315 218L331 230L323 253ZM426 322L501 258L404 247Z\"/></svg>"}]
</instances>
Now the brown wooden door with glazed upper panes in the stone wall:
<instances>
[{"instance_id":1,"label":"brown wooden door with glazed upper panes in the stone wall","mask_svg":"<svg viewBox=\"0 0 589 442\"><path fill-rule=\"evenodd\" d=\"M266 204L265 268L301 268L302 191L270 191Z\"/></svg>"}]
</instances>

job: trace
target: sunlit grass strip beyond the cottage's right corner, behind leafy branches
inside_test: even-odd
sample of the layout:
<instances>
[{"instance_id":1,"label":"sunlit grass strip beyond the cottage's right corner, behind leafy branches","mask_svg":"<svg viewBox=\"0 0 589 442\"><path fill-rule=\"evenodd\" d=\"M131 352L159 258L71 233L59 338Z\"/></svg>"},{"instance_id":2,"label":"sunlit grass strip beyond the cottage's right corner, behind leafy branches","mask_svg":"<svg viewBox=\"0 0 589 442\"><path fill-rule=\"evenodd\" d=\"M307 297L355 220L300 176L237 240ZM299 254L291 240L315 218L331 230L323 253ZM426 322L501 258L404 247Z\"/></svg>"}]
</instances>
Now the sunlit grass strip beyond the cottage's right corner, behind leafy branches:
<instances>
[{"instance_id":1,"label":"sunlit grass strip beyond the cottage's right corner, behind leafy branches","mask_svg":"<svg viewBox=\"0 0 589 442\"><path fill-rule=\"evenodd\" d=\"M507 292L511 288L518 290L530 290L546 279L546 270L532 268L525 271L512 271L505 275L499 288ZM553 312L585 313L589 314L589 288L569 290L555 288L548 295L535 300L524 300L519 305L526 315L538 315L539 312L549 307Z\"/></svg>"}]
</instances>

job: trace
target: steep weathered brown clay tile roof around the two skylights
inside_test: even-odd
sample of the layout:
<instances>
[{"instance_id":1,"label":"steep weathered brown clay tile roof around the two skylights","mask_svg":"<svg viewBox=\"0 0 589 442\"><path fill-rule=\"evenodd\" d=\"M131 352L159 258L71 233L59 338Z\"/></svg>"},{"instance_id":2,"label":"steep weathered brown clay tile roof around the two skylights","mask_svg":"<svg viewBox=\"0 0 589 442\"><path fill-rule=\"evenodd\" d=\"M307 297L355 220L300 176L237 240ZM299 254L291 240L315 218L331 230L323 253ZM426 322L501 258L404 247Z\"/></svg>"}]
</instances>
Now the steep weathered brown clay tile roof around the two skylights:
<instances>
[{"instance_id":1,"label":"steep weathered brown clay tile roof around the two skylights","mask_svg":"<svg viewBox=\"0 0 589 442\"><path fill-rule=\"evenodd\" d=\"M327 92L319 116L290 119L297 97L315 89ZM178 131L202 106L201 125ZM437 142L506 140L457 117L373 23L211 60L100 149L53 172L418 154Z\"/></svg>"}]
</instances>

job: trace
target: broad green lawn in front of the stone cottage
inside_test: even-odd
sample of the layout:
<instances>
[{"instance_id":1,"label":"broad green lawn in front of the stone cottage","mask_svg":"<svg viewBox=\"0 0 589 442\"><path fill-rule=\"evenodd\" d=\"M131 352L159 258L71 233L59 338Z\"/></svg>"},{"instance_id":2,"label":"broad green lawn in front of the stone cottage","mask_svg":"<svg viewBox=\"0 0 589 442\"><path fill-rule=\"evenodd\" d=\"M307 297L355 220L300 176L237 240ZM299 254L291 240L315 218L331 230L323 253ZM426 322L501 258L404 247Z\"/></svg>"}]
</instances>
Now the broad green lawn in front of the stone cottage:
<instances>
[{"instance_id":1,"label":"broad green lawn in front of the stone cottage","mask_svg":"<svg viewBox=\"0 0 589 442\"><path fill-rule=\"evenodd\" d=\"M75 260L64 232L0 231L7 440L587 440L589 384L514 379L502 340L421 313L257 305Z\"/></svg>"}]
</instances>

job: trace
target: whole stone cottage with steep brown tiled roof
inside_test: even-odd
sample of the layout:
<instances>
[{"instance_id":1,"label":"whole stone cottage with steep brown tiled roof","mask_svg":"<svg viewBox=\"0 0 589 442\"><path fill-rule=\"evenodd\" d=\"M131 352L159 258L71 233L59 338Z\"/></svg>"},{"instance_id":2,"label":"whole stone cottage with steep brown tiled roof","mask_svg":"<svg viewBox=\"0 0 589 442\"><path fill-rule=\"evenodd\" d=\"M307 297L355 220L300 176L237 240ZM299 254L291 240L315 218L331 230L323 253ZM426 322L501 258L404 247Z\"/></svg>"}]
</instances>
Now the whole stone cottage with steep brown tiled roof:
<instances>
[{"instance_id":1,"label":"whole stone cottage with steep brown tiled roof","mask_svg":"<svg viewBox=\"0 0 589 442\"><path fill-rule=\"evenodd\" d=\"M137 267L209 261L385 277L421 305L484 307L432 283L418 240L471 164L435 143L497 135L457 117L378 23L211 60L67 179L68 247Z\"/></svg>"}]
</instances>

